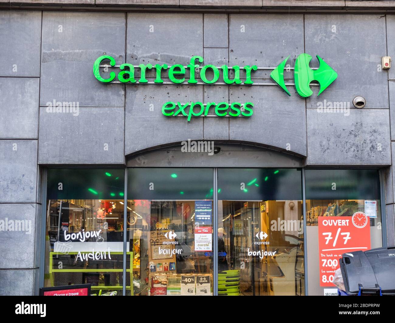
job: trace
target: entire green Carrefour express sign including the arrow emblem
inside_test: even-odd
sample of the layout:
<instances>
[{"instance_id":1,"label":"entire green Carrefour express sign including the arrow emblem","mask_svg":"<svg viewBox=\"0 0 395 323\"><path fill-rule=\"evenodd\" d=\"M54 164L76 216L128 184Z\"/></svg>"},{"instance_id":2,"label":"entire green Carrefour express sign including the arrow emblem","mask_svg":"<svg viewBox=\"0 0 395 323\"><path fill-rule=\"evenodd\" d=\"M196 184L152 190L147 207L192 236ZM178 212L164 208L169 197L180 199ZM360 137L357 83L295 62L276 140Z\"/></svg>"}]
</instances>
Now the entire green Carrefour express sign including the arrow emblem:
<instances>
[{"instance_id":1,"label":"entire green Carrefour express sign including the arrow emblem","mask_svg":"<svg viewBox=\"0 0 395 323\"><path fill-rule=\"evenodd\" d=\"M283 60L271 73L270 78L282 88L288 95L291 95L288 91L285 81L284 81L284 69L285 64L288 60L289 56ZM316 81L320 85L320 91L318 95L320 95L336 78L337 73L317 55L318 62L320 63L320 67L318 69L311 69L309 67L309 63L311 60L311 56L308 54L300 54L296 61L293 71L293 78L295 82L295 90L297 94L306 98L312 95L312 91L310 89L310 82ZM118 67L119 73L116 78L116 73L111 71L109 77L103 78L100 74L100 67L104 67L105 71L108 69L108 65L102 65L103 62L110 63L111 67ZM242 70L245 72L245 78L242 80L240 78L240 66L233 65L232 67L222 65L220 68L208 64L201 66L199 63L203 63L203 57L201 56L192 56L190 63L186 66L181 64L174 64L168 66L167 64L140 64L140 65L132 65L132 64L121 64L115 65L115 59L109 55L100 56L93 64L93 74L97 80L102 83L154 83L154 84L245 84L252 85L254 81L252 80L252 73L258 70L256 65L245 65ZM140 78L136 80L135 78L135 69L139 69ZM203 83L198 83L196 80L195 69L200 69L200 80ZM220 69L222 70L222 79L220 80ZM147 71L154 70L156 72L156 78L153 82L149 82L146 78ZM189 70L189 77L186 77L186 72ZM229 72L232 70L232 73ZM169 82L164 82L162 80L162 72L167 71L167 78ZM232 74L230 77L229 74ZM207 76L209 75L209 76ZM264 85L264 84L261 84ZM317 95L317 96L318 96ZM250 117L253 114L254 104L251 102L207 102L204 104L202 102L166 102L162 106L162 114L166 117L170 116L184 116L187 117L187 120L190 121L192 117L199 116L207 116L209 114L209 109L213 108L216 116L218 117Z\"/></svg>"}]
</instances>

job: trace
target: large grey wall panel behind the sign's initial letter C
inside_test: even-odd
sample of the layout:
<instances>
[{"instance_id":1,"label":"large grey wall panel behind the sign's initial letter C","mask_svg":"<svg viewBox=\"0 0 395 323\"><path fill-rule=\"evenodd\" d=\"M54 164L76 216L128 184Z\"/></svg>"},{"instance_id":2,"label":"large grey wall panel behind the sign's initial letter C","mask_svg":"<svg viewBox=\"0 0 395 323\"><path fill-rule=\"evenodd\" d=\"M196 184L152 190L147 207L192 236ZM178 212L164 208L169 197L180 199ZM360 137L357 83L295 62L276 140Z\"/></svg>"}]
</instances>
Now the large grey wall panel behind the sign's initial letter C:
<instances>
[{"instance_id":1,"label":"large grey wall panel behind the sign's initial letter C","mask_svg":"<svg viewBox=\"0 0 395 323\"><path fill-rule=\"evenodd\" d=\"M124 13L44 12L40 105L124 106L124 87L100 83L92 67L104 54L125 62L125 24Z\"/></svg>"}]
</instances>

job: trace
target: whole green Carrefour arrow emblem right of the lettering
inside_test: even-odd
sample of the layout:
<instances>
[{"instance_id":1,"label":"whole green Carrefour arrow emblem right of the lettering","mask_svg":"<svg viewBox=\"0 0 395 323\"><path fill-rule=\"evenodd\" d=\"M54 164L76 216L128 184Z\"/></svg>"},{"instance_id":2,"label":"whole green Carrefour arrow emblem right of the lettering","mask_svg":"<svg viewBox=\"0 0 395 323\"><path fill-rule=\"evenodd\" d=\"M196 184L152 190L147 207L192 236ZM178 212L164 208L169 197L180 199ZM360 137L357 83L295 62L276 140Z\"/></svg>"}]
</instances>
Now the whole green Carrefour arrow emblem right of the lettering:
<instances>
[{"instance_id":1,"label":"whole green Carrefour arrow emblem right of the lettering","mask_svg":"<svg viewBox=\"0 0 395 323\"><path fill-rule=\"evenodd\" d=\"M288 95L291 95L284 82L284 67L290 56L283 60L273 72L270 73L270 78L276 82ZM296 93L300 97L309 97L313 94L310 90L310 82L317 81L320 84L320 95L334 80L337 78L337 73L324 60L317 55L320 67L316 70L310 68L309 63L311 56L309 54L300 54L295 61L293 70L293 79L295 82ZM317 95L317 96L318 96Z\"/></svg>"}]
</instances>

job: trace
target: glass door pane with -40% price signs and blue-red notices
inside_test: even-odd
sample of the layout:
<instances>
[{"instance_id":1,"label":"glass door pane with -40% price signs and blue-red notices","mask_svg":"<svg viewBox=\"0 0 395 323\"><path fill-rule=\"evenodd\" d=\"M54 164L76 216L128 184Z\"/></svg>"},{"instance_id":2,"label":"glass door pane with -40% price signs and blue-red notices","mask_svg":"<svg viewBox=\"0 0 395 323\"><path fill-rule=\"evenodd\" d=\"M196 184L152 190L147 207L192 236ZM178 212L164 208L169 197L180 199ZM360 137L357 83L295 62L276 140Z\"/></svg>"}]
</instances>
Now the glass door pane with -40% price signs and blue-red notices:
<instances>
[{"instance_id":1,"label":"glass door pane with -40% price signs and blue-red notices","mask_svg":"<svg viewBox=\"0 0 395 323\"><path fill-rule=\"evenodd\" d=\"M127 203L126 295L213 295L213 169L130 168Z\"/></svg>"}]
</instances>

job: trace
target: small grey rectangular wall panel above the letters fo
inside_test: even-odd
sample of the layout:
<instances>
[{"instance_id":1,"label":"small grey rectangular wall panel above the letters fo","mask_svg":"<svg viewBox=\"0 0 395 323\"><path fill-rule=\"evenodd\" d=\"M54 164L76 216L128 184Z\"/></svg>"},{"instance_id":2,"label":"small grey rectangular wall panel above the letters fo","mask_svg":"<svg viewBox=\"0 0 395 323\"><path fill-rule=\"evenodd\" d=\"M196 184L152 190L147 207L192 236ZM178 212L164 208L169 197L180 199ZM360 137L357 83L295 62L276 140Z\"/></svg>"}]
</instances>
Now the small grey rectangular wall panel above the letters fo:
<instances>
[{"instance_id":1,"label":"small grey rectangular wall panel above the letters fo","mask_svg":"<svg viewBox=\"0 0 395 323\"><path fill-rule=\"evenodd\" d=\"M203 15L204 47L228 47L228 15Z\"/></svg>"}]
</instances>

